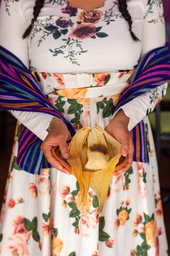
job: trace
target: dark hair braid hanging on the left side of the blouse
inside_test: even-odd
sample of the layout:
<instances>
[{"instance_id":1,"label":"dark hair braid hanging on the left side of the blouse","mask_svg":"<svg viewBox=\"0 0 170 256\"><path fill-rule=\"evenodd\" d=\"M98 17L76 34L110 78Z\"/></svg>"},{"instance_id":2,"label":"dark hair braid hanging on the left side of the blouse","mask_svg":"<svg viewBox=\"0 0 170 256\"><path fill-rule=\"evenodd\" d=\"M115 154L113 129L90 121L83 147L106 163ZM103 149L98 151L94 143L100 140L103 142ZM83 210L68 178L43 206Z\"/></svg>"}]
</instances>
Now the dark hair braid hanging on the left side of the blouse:
<instances>
[{"instance_id":1,"label":"dark hair braid hanging on the left side of the blouse","mask_svg":"<svg viewBox=\"0 0 170 256\"><path fill-rule=\"evenodd\" d=\"M26 31L23 34L23 38L26 38L27 36L29 36L29 34L31 33L31 29L33 27L34 22L37 20L37 17L40 13L40 10L42 9L44 4L44 0L36 0L35 1L35 6L33 8L33 19L31 20L31 24L29 25L29 27L26 29Z\"/></svg>"}]
</instances>

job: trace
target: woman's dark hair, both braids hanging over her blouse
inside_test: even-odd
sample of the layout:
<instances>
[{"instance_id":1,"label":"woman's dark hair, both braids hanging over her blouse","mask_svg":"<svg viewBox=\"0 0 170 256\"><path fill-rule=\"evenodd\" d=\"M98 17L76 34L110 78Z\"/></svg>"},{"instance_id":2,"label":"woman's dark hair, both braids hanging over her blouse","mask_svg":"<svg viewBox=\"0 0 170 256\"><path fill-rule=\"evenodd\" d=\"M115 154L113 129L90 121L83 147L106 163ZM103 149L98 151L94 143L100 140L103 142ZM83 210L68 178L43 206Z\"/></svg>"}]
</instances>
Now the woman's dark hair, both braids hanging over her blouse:
<instances>
[{"instance_id":1,"label":"woman's dark hair, both braids hanging over her blouse","mask_svg":"<svg viewBox=\"0 0 170 256\"><path fill-rule=\"evenodd\" d=\"M119 4L119 11L121 12L122 16L125 18L125 20L128 22L129 25L129 31L130 34L133 38L134 41L139 41L139 39L135 36L135 34L132 32L132 18L128 12L127 9L127 4L126 4L127 0L118 0L118 4ZM29 27L26 29L26 31L23 34L23 38L26 38L27 36L29 36L29 34L31 33L31 29L33 27L34 22L37 20L37 17L40 13L40 10L42 9L44 4L44 0L36 0L35 1L35 6L33 8L33 19L31 20L31 24L29 25Z\"/></svg>"}]
</instances>

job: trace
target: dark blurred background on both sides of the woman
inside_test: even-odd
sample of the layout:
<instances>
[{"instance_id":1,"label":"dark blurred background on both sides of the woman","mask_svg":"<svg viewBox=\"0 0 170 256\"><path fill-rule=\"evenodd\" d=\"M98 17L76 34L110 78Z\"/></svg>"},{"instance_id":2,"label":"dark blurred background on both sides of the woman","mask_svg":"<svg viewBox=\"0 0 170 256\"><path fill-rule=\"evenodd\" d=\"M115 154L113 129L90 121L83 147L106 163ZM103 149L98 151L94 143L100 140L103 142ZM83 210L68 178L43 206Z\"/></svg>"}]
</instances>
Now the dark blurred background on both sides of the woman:
<instances>
[{"instance_id":1,"label":"dark blurred background on both sides of the woman","mask_svg":"<svg viewBox=\"0 0 170 256\"><path fill-rule=\"evenodd\" d=\"M1 1L1 0L0 0ZM170 44L170 0L163 0L166 21L166 40ZM159 178L163 214L170 248L170 83L167 95L157 110L149 115L156 150L159 157ZM0 206L3 200L16 120L7 111L0 110Z\"/></svg>"}]
</instances>

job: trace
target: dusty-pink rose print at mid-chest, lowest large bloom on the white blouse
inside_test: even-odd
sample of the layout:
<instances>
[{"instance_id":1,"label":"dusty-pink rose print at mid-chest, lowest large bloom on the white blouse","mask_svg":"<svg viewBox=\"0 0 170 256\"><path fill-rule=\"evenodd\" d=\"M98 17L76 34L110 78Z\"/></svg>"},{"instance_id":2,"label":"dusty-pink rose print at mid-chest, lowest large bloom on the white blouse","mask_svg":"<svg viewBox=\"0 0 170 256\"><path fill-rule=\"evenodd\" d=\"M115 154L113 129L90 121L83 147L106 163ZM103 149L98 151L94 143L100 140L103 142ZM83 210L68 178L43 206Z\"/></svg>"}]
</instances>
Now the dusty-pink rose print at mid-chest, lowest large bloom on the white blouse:
<instances>
[{"instance_id":1,"label":"dusty-pink rose print at mid-chest, lowest large bloom on the white blouse","mask_svg":"<svg viewBox=\"0 0 170 256\"><path fill-rule=\"evenodd\" d=\"M93 25L79 24L74 29L71 29L69 36L76 37L78 39L85 39L91 36L95 36L96 27Z\"/></svg>"}]
</instances>

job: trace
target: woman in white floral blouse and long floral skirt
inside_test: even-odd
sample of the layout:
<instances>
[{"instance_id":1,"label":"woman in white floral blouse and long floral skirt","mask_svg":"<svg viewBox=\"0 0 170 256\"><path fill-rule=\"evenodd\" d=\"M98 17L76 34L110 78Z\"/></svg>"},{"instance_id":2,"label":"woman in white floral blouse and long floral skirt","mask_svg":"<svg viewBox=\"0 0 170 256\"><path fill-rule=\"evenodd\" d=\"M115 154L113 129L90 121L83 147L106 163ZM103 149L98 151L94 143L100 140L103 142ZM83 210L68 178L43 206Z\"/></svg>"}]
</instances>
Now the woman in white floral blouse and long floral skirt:
<instances>
[{"instance_id":1,"label":"woman in white floral blouse and long floral skirt","mask_svg":"<svg viewBox=\"0 0 170 256\"><path fill-rule=\"evenodd\" d=\"M162 2L4 0L0 19L0 45L30 68L58 111L56 116L52 110L11 107L19 125L2 209L0 255L168 255L146 117L165 95L166 84L115 109L139 60L165 45ZM148 146L145 159L136 157L129 132L141 120ZM26 137L21 137L27 130L21 123L43 141L41 150L53 168L44 168L46 162L37 171L38 164L33 169L32 162L39 159L22 161ZM126 166L110 180L100 214L94 192L89 190L85 207L80 204L75 177L51 154L52 146L59 145L63 157L69 157L66 140L74 134L70 124L75 131L106 128L121 143L121 154L128 155Z\"/></svg>"}]
</instances>

